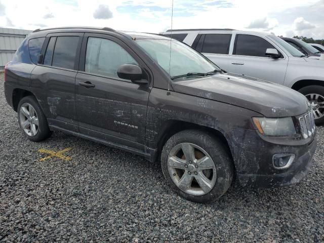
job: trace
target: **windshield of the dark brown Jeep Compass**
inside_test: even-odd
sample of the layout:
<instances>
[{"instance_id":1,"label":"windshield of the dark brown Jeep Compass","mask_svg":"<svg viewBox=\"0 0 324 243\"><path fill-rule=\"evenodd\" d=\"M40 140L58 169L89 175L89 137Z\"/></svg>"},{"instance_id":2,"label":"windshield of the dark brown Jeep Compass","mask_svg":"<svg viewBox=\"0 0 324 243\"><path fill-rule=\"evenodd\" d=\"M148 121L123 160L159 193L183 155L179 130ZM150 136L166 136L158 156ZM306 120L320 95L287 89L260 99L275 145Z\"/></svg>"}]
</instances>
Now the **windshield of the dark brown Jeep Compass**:
<instances>
[{"instance_id":1,"label":"windshield of the dark brown Jeep Compass","mask_svg":"<svg viewBox=\"0 0 324 243\"><path fill-rule=\"evenodd\" d=\"M170 69L171 77L187 73L207 73L220 70L214 63L183 43L172 41L170 62L170 40L136 39L136 42L167 73Z\"/></svg>"}]
</instances>

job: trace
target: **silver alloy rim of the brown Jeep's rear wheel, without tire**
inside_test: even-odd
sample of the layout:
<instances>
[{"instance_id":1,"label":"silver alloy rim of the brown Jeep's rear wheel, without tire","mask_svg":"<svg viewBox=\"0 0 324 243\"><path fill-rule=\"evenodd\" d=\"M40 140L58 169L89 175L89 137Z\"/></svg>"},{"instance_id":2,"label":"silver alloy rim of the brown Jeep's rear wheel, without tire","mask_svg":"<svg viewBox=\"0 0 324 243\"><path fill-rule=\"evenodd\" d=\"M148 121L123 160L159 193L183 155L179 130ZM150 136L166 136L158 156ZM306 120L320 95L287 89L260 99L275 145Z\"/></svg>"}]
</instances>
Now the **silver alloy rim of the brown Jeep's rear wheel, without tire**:
<instances>
[{"instance_id":1,"label":"silver alloy rim of the brown Jeep's rear wheel, without tire","mask_svg":"<svg viewBox=\"0 0 324 243\"><path fill-rule=\"evenodd\" d=\"M38 117L34 107L29 103L23 103L19 110L20 125L28 136L38 133Z\"/></svg>"}]
</instances>

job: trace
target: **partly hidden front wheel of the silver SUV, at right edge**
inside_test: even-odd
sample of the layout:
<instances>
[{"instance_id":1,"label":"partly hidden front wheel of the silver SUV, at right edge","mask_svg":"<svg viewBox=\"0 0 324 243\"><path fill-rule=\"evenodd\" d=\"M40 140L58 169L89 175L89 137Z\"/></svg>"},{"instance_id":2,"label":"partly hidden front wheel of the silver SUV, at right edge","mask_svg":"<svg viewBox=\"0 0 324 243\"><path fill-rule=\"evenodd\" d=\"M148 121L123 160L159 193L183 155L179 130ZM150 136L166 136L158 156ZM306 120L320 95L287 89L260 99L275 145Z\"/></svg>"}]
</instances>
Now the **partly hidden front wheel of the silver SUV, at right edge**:
<instances>
[{"instance_id":1,"label":"partly hidden front wheel of the silver SUV, at right edge","mask_svg":"<svg viewBox=\"0 0 324 243\"><path fill-rule=\"evenodd\" d=\"M310 102L315 118L315 124L317 126L322 125L324 123L324 87L319 85L310 85L301 88L298 92L305 95ZM319 102L323 102L323 104L320 105L318 104Z\"/></svg>"}]
</instances>

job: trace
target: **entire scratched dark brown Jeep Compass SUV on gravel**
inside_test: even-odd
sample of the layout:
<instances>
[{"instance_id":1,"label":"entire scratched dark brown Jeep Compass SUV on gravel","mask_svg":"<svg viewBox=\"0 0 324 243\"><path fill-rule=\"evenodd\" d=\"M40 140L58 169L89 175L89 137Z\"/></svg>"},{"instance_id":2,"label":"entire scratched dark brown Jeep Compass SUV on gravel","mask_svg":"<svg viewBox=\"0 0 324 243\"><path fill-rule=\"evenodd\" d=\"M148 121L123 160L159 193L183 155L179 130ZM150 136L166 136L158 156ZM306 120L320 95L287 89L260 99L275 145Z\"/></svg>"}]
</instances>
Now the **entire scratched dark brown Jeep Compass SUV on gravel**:
<instances>
[{"instance_id":1,"label":"entire scratched dark brown Jeep Compass SUV on gravel","mask_svg":"<svg viewBox=\"0 0 324 243\"><path fill-rule=\"evenodd\" d=\"M28 139L61 130L159 161L168 184L193 201L216 200L234 177L293 184L311 166L316 128L303 95L226 73L168 37L35 30L5 72Z\"/></svg>"}]
</instances>

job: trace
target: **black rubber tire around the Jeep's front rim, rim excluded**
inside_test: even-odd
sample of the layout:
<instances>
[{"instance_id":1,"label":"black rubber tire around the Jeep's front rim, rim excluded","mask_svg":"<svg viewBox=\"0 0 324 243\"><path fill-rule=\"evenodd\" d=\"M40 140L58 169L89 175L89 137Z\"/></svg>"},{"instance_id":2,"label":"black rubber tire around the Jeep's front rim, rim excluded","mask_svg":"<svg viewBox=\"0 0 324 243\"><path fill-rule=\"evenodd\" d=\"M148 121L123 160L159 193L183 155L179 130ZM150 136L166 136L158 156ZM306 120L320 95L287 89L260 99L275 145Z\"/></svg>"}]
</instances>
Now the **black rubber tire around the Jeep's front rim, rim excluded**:
<instances>
[{"instance_id":1,"label":"black rubber tire around the Jeep's front rim, rim excluded","mask_svg":"<svg viewBox=\"0 0 324 243\"><path fill-rule=\"evenodd\" d=\"M179 189L168 171L168 155L171 149L180 143L193 143L203 148L213 159L216 167L216 182L213 189L205 195L194 196ZM172 136L161 153L161 168L168 185L180 196L196 203L209 203L221 197L231 185L233 179L233 162L222 143L208 133L186 130Z\"/></svg>"}]
</instances>

